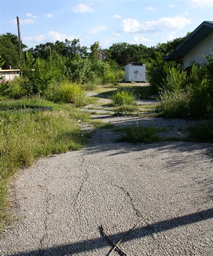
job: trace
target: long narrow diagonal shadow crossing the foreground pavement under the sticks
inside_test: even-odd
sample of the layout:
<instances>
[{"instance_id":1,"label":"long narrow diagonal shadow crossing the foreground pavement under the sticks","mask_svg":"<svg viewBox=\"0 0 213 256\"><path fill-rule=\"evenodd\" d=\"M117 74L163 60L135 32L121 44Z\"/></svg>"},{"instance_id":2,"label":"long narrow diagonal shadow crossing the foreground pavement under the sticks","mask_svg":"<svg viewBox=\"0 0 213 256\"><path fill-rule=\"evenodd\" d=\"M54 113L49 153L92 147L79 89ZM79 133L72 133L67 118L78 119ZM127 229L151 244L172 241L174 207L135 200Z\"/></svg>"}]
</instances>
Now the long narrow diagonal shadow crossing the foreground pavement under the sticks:
<instances>
[{"instance_id":1,"label":"long narrow diagonal shadow crossing the foreground pavement under the sticks","mask_svg":"<svg viewBox=\"0 0 213 256\"><path fill-rule=\"evenodd\" d=\"M213 218L213 208L208 210L202 210L190 215L184 215L175 219L169 219L160 221L154 224L149 225L148 227L141 227L138 229L134 229L128 237L125 238L124 242L143 238L146 236L150 236L154 233L159 233L165 230L178 228L181 226L193 224L195 222L203 221L206 219ZM128 230L127 230L128 231ZM126 232L127 232L126 231ZM108 236L112 241L118 242L119 239L125 235L126 232L117 233L114 235ZM32 256L32 255L57 255L57 256L65 256L67 254L74 254L86 251L92 251L93 249L98 249L102 247L109 246L109 244L105 241L105 238L94 238L90 240L83 240L78 243L70 243L65 245L59 245L56 247L50 247L46 249L29 251L29 252L17 252L16 254L12 254L13 256Z\"/></svg>"}]
</instances>

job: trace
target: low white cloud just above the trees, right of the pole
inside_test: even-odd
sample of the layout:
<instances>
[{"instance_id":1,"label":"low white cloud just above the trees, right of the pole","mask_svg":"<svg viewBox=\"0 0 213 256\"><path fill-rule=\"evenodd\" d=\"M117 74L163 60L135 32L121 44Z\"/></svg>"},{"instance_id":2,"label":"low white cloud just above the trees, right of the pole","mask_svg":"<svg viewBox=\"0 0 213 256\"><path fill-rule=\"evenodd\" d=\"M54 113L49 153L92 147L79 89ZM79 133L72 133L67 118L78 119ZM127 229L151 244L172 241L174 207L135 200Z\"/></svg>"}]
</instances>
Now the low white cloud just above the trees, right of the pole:
<instances>
[{"instance_id":1,"label":"low white cloud just above the trees, right of the pole","mask_svg":"<svg viewBox=\"0 0 213 256\"><path fill-rule=\"evenodd\" d=\"M47 35L39 35L39 36L35 36L35 37L24 37L23 41L31 41L34 43L42 43L42 42L55 42L55 41L64 41L65 39L68 40L73 40L74 38L76 38L73 35L65 35L65 34L60 34L59 32L56 31L49 31L47 33Z\"/></svg>"}]
</instances>

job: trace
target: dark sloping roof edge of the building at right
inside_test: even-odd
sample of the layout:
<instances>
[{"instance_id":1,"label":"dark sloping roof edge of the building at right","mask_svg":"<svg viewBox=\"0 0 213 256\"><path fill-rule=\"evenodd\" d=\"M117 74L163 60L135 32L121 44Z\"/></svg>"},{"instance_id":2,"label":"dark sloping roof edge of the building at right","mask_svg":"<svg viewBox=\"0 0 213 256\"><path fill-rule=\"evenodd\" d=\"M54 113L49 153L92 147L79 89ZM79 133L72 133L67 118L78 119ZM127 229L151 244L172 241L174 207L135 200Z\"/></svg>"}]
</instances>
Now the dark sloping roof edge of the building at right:
<instances>
[{"instance_id":1,"label":"dark sloping roof edge of the building at right","mask_svg":"<svg viewBox=\"0 0 213 256\"><path fill-rule=\"evenodd\" d=\"M177 46L168 56L163 56L163 60L182 59L201 41L213 32L213 21L204 21L200 24L179 46Z\"/></svg>"}]
</instances>

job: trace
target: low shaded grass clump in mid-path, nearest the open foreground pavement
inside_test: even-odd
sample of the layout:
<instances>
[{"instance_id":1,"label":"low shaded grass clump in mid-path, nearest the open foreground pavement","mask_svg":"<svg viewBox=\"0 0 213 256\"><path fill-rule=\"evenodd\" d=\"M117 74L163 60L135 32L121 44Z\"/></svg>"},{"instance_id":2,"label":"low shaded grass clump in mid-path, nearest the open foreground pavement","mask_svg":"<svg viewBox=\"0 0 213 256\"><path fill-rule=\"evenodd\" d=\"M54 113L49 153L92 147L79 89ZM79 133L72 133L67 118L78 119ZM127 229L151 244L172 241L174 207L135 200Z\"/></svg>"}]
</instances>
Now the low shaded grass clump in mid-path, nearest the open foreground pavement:
<instances>
[{"instance_id":1,"label":"low shaded grass clump in mid-path, nearest the open foreground pavement","mask_svg":"<svg viewBox=\"0 0 213 256\"><path fill-rule=\"evenodd\" d=\"M128 142L158 142L161 140L158 132L161 130L155 127L133 126L128 128L122 128L120 131L119 141Z\"/></svg>"}]
</instances>

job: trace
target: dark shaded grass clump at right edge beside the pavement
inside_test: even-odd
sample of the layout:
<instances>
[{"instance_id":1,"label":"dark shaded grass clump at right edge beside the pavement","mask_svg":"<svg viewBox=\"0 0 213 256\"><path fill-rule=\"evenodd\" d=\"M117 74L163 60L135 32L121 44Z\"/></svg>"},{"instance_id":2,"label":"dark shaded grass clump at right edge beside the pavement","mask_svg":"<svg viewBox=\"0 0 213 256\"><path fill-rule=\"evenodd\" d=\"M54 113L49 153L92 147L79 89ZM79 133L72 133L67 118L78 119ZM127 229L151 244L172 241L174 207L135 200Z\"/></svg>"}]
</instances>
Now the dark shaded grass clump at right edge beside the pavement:
<instances>
[{"instance_id":1,"label":"dark shaded grass clump at right edge beside the pavement","mask_svg":"<svg viewBox=\"0 0 213 256\"><path fill-rule=\"evenodd\" d=\"M213 120L203 121L200 124L192 126L189 130L189 139L213 142Z\"/></svg>"}]
</instances>

